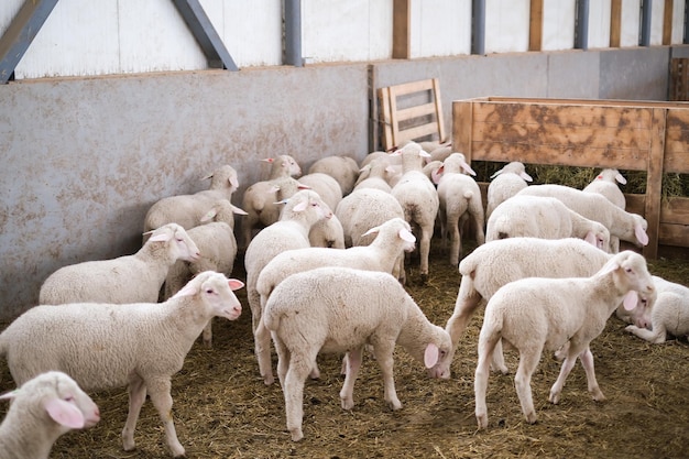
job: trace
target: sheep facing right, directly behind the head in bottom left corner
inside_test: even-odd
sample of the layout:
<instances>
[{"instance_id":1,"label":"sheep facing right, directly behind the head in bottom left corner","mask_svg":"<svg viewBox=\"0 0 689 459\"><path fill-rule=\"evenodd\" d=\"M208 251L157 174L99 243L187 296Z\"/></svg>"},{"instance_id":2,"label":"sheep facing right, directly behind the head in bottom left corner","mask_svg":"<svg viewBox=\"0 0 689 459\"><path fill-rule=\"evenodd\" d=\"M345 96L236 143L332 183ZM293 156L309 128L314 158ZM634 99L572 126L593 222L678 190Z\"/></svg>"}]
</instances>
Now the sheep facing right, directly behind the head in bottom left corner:
<instances>
[{"instance_id":1,"label":"sheep facing right, directly behind the head in bottom left corner","mask_svg":"<svg viewBox=\"0 0 689 459\"><path fill-rule=\"evenodd\" d=\"M204 272L164 303L35 306L0 334L0 356L7 358L17 384L57 370L87 392L128 386L129 415L122 430L128 451L134 448L134 428L147 393L173 456L184 456L172 417L171 376L182 369L212 316L240 316L232 291L243 285Z\"/></svg>"}]
</instances>

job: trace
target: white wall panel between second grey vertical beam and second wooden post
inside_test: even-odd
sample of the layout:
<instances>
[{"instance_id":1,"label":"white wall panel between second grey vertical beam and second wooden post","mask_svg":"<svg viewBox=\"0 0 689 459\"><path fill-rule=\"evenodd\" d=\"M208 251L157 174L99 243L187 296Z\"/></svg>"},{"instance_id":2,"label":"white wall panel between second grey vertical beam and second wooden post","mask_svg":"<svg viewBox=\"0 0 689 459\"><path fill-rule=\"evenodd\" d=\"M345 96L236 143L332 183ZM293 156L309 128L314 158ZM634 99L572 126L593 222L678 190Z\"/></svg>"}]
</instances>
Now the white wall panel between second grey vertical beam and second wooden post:
<instances>
[{"instance_id":1,"label":"white wall panel between second grey vertical beam and second wooden post","mask_svg":"<svg viewBox=\"0 0 689 459\"><path fill-rule=\"evenodd\" d=\"M485 53L528 51L529 0L485 0Z\"/></svg>"}]
</instances>

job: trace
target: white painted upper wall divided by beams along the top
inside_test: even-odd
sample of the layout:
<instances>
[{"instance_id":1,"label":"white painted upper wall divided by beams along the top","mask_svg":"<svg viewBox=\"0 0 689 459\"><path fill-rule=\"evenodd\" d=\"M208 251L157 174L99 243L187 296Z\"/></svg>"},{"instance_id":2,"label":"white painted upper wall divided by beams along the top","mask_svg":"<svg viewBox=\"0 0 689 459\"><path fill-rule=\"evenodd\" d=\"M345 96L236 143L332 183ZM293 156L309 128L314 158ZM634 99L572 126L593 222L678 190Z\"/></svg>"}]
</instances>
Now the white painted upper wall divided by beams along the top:
<instances>
[{"instance_id":1,"label":"white painted upper wall divided by beams along the top","mask_svg":"<svg viewBox=\"0 0 689 459\"><path fill-rule=\"evenodd\" d=\"M0 1L0 34L24 0ZM242 67L282 65L282 0L200 0ZM652 7L650 44L661 45L664 1ZM413 0L413 58L471 53L471 0ZM589 47L610 44L611 0L589 4ZM683 36L683 0L672 3L672 44ZM570 50L576 0L544 0L544 51ZM306 63L392 56L393 0L302 0ZM641 0L622 2L621 46L638 46ZM485 51L528 51L529 0L486 0ZM171 0L61 0L15 70L17 79L207 68Z\"/></svg>"}]
</instances>

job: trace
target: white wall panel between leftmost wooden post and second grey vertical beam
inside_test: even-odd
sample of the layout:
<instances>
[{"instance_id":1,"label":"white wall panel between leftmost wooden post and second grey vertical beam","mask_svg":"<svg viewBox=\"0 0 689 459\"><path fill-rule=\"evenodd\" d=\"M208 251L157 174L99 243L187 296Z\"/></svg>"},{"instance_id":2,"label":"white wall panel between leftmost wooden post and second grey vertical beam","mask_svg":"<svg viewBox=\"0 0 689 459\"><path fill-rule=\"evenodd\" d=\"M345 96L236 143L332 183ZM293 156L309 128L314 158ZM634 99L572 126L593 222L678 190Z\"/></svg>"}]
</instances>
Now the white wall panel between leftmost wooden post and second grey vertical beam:
<instances>
[{"instance_id":1,"label":"white wall panel between leftmost wooden post and second grey vertical beam","mask_svg":"<svg viewBox=\"0 0 689 459\"><path fill-rule=\"evenodd\" d=\"M471 54L471 0L413 0L411 56Z\"/></svg>"}]
</instances>

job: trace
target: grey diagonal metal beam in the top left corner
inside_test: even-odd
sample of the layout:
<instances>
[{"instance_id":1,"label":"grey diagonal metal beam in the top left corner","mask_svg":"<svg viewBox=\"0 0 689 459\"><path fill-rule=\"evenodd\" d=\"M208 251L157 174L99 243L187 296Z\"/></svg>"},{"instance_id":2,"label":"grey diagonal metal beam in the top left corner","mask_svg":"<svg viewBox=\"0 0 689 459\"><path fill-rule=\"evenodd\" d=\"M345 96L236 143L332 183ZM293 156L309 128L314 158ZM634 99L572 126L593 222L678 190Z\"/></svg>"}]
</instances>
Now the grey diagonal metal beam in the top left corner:
<instances>
[{"instance_id":1,"label":"grey diagonal metal beam in the top left corner","mask_svg":"<svg viewBox=\"0 0 689 459\"><path fill-rule=\"evenodd\" d=\"M39 34L57 0L26 0L0 37L0 84L14 74L31 42Z\"/></svg>"}]
</instances>

